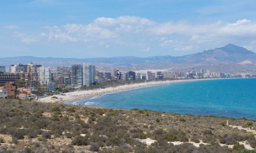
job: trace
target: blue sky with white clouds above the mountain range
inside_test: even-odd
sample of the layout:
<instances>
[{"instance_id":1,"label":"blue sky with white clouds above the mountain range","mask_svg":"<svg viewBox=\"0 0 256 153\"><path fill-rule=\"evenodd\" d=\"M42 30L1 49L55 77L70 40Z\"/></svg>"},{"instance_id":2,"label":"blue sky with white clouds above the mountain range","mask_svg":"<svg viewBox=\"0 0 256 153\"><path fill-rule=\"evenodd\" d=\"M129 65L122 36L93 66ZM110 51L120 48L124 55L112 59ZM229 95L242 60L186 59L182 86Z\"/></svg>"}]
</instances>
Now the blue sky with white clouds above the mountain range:
<instances>
[{"instance_id":1,"label":"blue sky with white clouds above the mountain range","mask_svg":"<svg viewBox=\"0 0 256 153\"><path fill-rule=\"evenodd\" d=\"M256 53L255 0L2 0L0 57Z\"/></svg>"}]
</instances>

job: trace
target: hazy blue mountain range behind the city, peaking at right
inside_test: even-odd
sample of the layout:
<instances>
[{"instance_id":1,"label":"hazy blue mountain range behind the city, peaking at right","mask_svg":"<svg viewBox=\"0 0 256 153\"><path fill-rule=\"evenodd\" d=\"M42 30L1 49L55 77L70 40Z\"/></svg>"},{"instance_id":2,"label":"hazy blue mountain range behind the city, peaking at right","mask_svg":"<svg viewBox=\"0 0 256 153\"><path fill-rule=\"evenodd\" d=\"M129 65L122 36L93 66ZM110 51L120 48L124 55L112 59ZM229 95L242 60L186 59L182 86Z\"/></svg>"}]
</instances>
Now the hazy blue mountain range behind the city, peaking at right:
<instances>
[{"instance_id":1,"label":"hazy blue mountain range behind the city, peaking at right","mask_svg":"<svg viewBox=\"0 0 256 153\"><path fill-rule=\"evenodd\" d=\"M51 66L71 66L72 64L91 63L98 70L146 70L168 69L173 71L200 70L200 68L221 72L256 72L256 53L243 47L228 44L201 53L184 56L153 56L153 57L104 57L104 58L55 58L55 57L6 57L0 58L0 65L10 64L42 64Z\"/></svg>"}]
</instances>

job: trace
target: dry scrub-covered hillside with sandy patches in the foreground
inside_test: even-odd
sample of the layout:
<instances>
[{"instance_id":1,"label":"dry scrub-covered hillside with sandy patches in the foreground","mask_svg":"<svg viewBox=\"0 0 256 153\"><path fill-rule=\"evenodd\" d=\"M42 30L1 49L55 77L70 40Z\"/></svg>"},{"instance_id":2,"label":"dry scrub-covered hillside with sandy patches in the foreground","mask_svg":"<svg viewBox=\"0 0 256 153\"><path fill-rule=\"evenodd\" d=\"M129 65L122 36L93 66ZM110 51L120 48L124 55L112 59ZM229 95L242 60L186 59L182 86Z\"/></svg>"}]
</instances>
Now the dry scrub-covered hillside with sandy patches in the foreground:
<instances>
[{"instance_id":1,"label":"dry scrub-covered hillside with sandy patches in the foreground","mask_svg":"<svg viewBox=\"0 0 256 153\"><path fill-rule=\"evenodd\" d=\"M1 153L247 153L255 127L245 118L0 99Z\"/></svg>"}]
</instances>

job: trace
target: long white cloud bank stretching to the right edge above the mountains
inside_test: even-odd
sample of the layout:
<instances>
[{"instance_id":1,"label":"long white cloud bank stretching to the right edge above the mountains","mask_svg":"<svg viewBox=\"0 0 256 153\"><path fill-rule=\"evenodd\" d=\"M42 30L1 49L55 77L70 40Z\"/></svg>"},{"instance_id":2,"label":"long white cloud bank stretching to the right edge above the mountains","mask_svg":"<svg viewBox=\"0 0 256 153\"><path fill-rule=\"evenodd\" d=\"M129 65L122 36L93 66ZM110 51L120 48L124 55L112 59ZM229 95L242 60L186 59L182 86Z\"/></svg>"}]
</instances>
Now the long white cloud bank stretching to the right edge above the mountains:
<instances>
[{"instance_id":1,"label":"long white cloud bank stretching to the right edge above the mountains","mask_svg":"<svg viewBox=\"0 0 256 153\"><path fill-rule=\"evenodd\" d=\"M48 32L41 37L60 42L83 42L88 46L98 46L98 42L109 45L140 47L141 51L150 51L154 43L162 48L175 51L189 51L197 45L212 42L233 42L230 40L255 39L256 23L241 19L234 23L215 21L193 24L188 21L163 23L143 17L121 16L117 18L98 17L89 24L66 24L47 26ZM143 45L139 45L143 44Z\"/></svg>"}]
</instances>

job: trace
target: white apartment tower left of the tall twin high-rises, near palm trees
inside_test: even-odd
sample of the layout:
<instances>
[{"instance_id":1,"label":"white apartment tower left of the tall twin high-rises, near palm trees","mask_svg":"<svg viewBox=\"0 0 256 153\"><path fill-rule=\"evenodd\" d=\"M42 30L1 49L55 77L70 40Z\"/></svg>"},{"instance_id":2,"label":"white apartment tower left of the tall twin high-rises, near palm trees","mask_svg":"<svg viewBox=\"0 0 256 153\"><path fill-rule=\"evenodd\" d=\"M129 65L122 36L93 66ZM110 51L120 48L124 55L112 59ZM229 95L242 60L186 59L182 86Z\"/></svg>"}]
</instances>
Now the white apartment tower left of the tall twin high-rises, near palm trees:
<instances>
[{"instance_id":1,"label":"white apartment tower left of the tall twin high-rises, near palm trees","mask_svg":"<svg viewBox=\"0 0 256 153\"><path fill-rule=\"evenodd\" d=\"M52 81L51 68L41 66L37 69L39 83L41 85L46 85Z\"/></svg>"}]
</instances>

